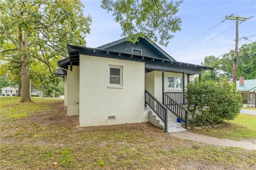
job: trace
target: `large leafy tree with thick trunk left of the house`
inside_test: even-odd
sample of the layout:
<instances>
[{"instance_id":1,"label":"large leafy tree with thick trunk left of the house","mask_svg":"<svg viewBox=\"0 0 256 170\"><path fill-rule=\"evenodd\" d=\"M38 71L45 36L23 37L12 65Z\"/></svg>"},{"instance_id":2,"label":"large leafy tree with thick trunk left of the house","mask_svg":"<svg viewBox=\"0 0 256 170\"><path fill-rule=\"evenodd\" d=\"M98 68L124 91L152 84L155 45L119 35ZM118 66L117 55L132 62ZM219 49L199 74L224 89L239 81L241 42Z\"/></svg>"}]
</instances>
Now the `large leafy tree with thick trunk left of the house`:
<instances>
[{"instance_id":1,"label":"large leafy tree with thick trunk left of the house","mask_svg":"<svg viewBox=\"0 0 256 170\"><path fill-rule=\"evenodd\" d=\"M0 57L20 63L22 98L29 94L29 64L67 57L66 44L85 45L91 18L80 0L0 0Z\"/></svg>"}]
</instances>

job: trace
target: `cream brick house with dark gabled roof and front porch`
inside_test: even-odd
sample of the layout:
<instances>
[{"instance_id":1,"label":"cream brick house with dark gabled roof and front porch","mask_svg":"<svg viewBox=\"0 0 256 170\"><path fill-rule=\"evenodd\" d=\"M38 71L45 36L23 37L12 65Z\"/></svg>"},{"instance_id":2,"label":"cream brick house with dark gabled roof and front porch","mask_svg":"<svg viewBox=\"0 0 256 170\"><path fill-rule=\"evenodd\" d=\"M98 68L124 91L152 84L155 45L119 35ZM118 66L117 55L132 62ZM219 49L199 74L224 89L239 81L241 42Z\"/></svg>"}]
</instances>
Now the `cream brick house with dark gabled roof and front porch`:
<instances>
[{"instance_id":1,"label":"cream brick house with dark gabled roof and front porch","mask_svg":"<svg viewBox=\"0 0 256 170\"><path fill-rule=\"evenodd\" d=\"M57 74L64 77L67 114L79 115L80 127L150 121L173 132L179 117L188 128L180 105L186 103L185 87L194 75L213 69L178 62L147 38L98 48L68 45L68 54L58 61Z\"/></svg>"}]
</instances>

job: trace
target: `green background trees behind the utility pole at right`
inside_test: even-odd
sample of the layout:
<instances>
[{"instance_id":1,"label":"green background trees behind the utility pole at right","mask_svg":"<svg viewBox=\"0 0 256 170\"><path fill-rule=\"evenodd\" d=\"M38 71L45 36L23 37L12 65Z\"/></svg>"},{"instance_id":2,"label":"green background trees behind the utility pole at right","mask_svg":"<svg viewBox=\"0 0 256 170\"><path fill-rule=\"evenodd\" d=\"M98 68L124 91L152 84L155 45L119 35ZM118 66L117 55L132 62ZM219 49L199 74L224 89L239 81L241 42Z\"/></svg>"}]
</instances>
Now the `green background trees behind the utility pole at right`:
<instances>
[{"instance_id":1,"label":"green background trees behind the utility pole at right","mask_svg":"<svg viewBox=\"0 0 256 170\"><path fill-rule=\"evenodd\" d=\"M244 44L238 49L238 67L236 79L244 77L245 79L256 79L256 42ZM222 77L233 78L233 58L234 50L226 53L222 58L208 56L204 58L202 65L213 67L214 71L207 70L202 72L202 81L219 81Z\"/></svg>"}]
</instances>

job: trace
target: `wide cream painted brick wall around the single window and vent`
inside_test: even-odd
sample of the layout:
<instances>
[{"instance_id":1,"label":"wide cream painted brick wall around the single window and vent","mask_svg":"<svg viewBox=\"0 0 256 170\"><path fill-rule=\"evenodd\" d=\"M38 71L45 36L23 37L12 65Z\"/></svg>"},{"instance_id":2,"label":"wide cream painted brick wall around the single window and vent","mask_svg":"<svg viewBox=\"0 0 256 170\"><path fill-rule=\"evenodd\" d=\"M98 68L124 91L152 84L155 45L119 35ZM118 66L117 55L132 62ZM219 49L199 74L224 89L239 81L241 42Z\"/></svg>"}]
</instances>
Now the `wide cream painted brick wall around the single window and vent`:
<instances>
[{"instance_id":1,"label":"wide cream painted brick wall around the single window and vent","mask_svg":"<svg viewBox=\"0 0 256 170\"><path fill-rule=\"evenodd\" d=\"M122 88L108 88L108 65L123 67ZM144 81L142 62L81 55L80 126L148 122ZM115 116L116 120L108 120L108 116Z\"/></svg>"}]
</instances>

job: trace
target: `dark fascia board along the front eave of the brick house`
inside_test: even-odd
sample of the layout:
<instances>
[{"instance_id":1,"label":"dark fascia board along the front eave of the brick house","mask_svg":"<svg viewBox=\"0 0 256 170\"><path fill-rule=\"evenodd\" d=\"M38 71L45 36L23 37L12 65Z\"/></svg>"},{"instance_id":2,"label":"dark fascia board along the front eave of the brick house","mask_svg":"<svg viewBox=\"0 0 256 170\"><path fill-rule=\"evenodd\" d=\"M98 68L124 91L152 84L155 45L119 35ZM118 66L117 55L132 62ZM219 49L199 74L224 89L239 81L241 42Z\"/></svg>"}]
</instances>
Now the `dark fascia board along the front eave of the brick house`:
<instances>
[{"instance_id":1,"label":"dark fascia board along the front eave of the brick house","mask_svg":"<svg viewBox=\"0 0 256 170\"><path fill-rule=\"evenodd\" d=\"M147 62L147 61L154 61L154 62L161 62L161 63L171 63L174 65L179 65L179 67L190 67L192 69L200 69L202 70L213 70L212 67L204 67L202 65L194 65L190 63L183 63L178 61L172 61L169 59L160 59L156 57L149 57L143 55L133 55L130 53L121 53L118 51L111 51L107 49L97 49L97 48L90 48L90 47L80 47L75 45L68 45L69 51L78 50L82 55L92 55L98 57L108 57L108 58L115 58L115 59L124 59L130 61L139 61L139 62Z\"/></svg>"}]
</instances>

